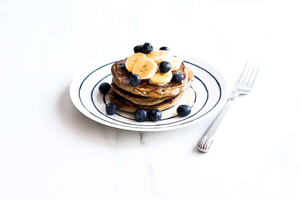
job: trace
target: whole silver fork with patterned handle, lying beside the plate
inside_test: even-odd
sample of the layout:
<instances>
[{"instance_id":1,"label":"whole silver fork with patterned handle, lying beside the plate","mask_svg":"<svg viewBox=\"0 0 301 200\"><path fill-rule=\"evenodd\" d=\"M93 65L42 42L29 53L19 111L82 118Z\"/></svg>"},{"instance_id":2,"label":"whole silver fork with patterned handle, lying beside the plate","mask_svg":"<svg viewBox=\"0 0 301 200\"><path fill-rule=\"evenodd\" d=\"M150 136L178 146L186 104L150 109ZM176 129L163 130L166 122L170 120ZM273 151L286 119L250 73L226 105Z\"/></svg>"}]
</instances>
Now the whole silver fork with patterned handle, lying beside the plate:
<instances>
[{"instance_id":1,"label":"whole silver fork with patterned handle, lying beside the plate","mask_svg":"<svg viewBox=\"0 0 301 200\"><path fill-rule=\"evenodd\" d=\"M236 98L241 94L248 94L251 91L260 65L260 62L257 64L257 61L255 61L255 64L252 63L254 62L249 60L247 61L244 71L233 89L234 93L232 97L228 98L225 106L221 109L219 114L197 142L198 150L204 153L210 150L220 130L222 129L222 125L226 121L226 118L228 118L229 112L233 108Z\"/></svg>"}]
</instances>

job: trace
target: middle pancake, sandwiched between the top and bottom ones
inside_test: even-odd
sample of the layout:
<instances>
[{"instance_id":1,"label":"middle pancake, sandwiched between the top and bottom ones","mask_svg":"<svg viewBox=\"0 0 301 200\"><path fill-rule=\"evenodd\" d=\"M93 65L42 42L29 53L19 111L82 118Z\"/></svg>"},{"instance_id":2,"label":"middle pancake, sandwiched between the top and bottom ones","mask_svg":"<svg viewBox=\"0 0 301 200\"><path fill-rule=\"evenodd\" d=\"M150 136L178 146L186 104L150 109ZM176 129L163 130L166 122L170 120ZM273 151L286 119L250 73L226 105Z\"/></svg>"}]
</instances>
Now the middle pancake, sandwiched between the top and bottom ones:
<instances>
[{"instance_id":1,"label":"middle pancake, sandwiched between the top and bottom ones","mask_svg":"<svg viewBox=\"0 0 301 200\"><path fill-rule=\"evenodd\" d=\"M161 103L164 100L172 98L172 97L152 98L152 97L139 96L137 94L133 94L121 88L118 88L118 86L114 82L111 83L111 90L116 92L120 96L125 97L127 100L132 101L133 103L143 105L143 106L155 105Z\"/></svg>"}]
</instances>

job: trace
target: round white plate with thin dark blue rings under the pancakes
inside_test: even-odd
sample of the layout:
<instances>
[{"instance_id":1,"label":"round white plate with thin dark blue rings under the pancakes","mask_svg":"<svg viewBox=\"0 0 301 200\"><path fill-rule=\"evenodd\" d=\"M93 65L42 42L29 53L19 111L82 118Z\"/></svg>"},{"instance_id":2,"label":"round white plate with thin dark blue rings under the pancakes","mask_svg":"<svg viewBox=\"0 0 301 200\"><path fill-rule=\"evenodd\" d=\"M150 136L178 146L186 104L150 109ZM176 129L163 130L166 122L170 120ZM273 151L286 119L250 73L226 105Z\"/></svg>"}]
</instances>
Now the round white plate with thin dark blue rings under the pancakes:
<instances>
[{"instance_id":1,"label":"round white plate with thin dark blue rings under the pancakes","mask_svg":"<svg viewBox=\"0 0 301 200\"><path fill-rule=\"evenodd\" d=\"M218 111L225 103L227 84L225 78L211 65L187 55L175 54L194 73L194 82L185 91L185 97L177 105L163 110L160 121L137 122L133 113L118 110L115 115L107 115L105 103L108 94L98 91L103 82L112 82L111 66L124 58L114 55L95 61L80 70L70 85L70 97L74 106L88 118L107 126L134 131L172 130L195 124ZM189 105L191 113L186 117L177 115L179 105Z\"/></svg>"}]
</instances>

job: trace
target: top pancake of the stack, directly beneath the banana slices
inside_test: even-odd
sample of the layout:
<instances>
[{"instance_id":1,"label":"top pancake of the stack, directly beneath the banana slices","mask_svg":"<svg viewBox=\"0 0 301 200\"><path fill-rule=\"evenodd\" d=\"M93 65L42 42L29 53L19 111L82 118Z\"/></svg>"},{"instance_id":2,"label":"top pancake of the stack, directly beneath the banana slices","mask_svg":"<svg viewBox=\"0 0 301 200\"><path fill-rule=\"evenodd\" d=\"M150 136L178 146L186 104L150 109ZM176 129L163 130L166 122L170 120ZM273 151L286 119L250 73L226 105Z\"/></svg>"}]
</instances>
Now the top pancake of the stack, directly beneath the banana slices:
<instances>
[{"instance_id":1,"label":"top pancake of the stack, directly beneath the banana slices","mask_svg":"<svg viewBox=\"0 0 301 200\"><path fill-rule=\"evenodd\" d=\"M191 69L186 67L182 62L182 65L178 70L172 71L172 74L176 72L183 73L184 79L182 82L175 82L174 80L171 80L165 85L155 85L149 83L147 79L143 79L138 86L132 86L129 82L132 72L129 72L126 69L125 61L126 58L114 63L111 71L116 85L133 94L152 98L173 97L187 90L194 81L194 75Z\"/></svg>"}]
</instances>

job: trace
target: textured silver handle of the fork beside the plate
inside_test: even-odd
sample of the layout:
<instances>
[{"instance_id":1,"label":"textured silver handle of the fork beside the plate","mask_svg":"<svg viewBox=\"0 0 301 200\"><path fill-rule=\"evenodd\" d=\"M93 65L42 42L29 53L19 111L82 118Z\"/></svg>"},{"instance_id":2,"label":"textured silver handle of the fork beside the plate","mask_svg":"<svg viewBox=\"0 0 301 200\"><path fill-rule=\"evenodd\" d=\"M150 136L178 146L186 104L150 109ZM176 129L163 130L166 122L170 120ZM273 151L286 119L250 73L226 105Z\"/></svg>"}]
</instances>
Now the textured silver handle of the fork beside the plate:
<instances>
[{"instance_id":1,"label":"textured silver handle of the fork beside the plate","mask_svg":"<svg viewBox=\"0 0 301 200\"><path fill-rule=\"evenodd\" d=\"M213 142L217 138L219 131L222 129L222 126L228 118L230 111L232 110L235 102L235 98L228 98L225 106L221 109L219 114L209 125L203 136L197 142L197 149L206 153L210 150L210 147L213 145Z\"/></svg>"}]
</instances>

